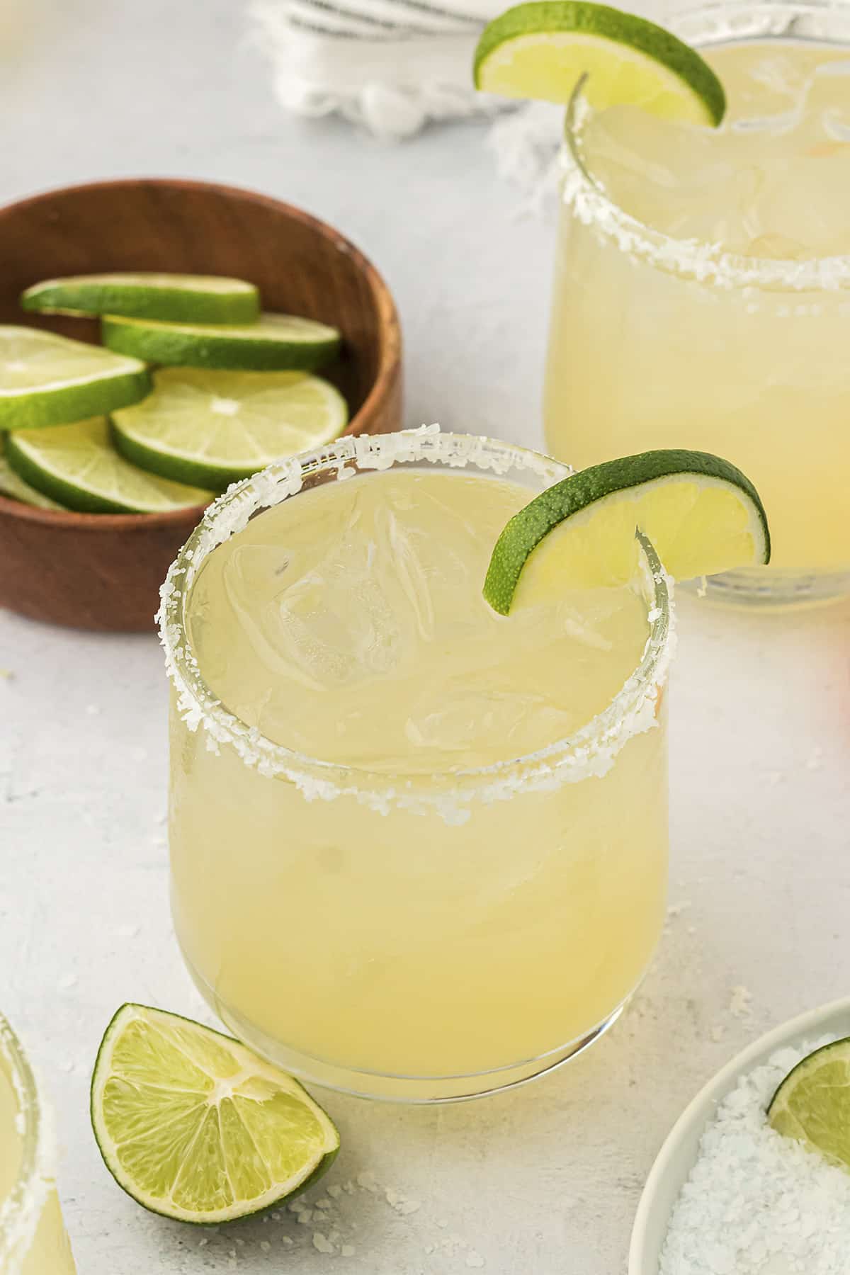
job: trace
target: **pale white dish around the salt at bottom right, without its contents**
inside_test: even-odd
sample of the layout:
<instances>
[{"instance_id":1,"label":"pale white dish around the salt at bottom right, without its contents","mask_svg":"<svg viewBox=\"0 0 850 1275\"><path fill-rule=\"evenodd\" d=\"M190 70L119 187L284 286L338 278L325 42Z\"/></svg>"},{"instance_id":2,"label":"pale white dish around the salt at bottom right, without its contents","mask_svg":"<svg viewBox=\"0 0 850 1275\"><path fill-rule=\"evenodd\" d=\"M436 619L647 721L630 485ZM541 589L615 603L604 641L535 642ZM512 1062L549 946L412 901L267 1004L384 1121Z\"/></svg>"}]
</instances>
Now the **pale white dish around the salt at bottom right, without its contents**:
<instances>
[{"instance_id":1,"label":"pale white dish around the salt at bottom right, without its contents","mask_svg":"<svg viewBox=\"0 0 850 1275\"><path fill-rule=\"evenodd\" d=\"M658 1275L670 1213L696 1164L700 1139L717 1104L735 1088L738 1079L766 1062L776 1049L799 1048L825 1035L850 1035L850 1000L822 1005L768 1031L733 1058L686 1107L646 1179L628 1250L628 1275Z\"/></svg>"}]
</instances>

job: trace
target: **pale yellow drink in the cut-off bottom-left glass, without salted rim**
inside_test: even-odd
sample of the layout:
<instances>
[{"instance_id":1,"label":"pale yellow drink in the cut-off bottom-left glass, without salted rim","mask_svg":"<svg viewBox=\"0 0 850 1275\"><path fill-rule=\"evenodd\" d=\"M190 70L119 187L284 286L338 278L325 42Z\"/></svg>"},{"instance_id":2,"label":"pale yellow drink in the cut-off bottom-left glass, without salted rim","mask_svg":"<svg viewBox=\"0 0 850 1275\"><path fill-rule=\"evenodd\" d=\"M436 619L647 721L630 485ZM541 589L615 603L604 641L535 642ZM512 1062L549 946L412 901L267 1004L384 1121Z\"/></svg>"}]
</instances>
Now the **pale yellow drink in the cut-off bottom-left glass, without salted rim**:
<instances>
[{"instance_id":1,"label":"pale yellow drink in the cut-off bottom-left glass, without salted rim","mask_svg":"<svg viewBox=\"0 0 850 1275\"><path fill-rule=\"evenodd\" d=\"M23 1159L23 1130L18 1094L0 1046L0 1210L15 1187ZM14 1227L15 1219L10 1219ZM4 1265L0 1229L0 1275L75 1275L74 1260L62 1224L56 1191L45 1200L36 1234L25 1253ZM22 1264L20 1264L22 1262Z\"/></svg>"}]
</instances>

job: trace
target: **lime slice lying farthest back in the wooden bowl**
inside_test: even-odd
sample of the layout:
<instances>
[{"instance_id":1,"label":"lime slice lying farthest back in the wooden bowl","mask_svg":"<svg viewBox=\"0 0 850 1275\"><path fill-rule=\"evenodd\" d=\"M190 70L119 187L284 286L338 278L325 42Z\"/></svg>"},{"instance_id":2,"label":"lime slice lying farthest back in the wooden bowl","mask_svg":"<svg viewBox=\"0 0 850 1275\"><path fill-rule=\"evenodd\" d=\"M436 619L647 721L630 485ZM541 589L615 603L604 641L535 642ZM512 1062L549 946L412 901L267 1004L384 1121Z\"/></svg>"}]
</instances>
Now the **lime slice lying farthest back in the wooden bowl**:
<instances>
[{"instance_id":1,"label":"lime slice lying farthest back in the wooden bowl","mask_svg":"<svg viewBox=\"0 0 850 1275\"><path fill-rule=\"evenodd\" d=\"M20 305L42 314L252 323L260 314L260 293L252 283L217 274L69 274L33 283Z\"/></svg>"}]
</instances>

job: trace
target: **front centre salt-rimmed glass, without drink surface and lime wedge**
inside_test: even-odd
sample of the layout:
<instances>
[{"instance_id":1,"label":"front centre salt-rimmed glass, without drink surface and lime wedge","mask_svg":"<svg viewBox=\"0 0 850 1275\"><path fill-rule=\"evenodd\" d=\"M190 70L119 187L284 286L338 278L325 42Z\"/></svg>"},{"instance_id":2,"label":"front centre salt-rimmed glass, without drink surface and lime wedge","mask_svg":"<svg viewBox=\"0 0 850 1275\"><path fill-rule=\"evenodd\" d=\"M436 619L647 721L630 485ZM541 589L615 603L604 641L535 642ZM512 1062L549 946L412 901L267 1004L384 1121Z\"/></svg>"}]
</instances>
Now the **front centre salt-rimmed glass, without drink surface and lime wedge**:
<instances>
[{"instance_id":1,"label":"front centre salt-rimmed glass, without drink surface and lime wedge","mask_svg":"<svg viewBox=\"0 0 850 1275\"><path fill-rule=\"evenodd\" d=\"M516 1084L566 1061L610 1026L642 977L665 900L663 691L672 621L666 579L642 539L650 631L640 666L572 738L529 756L475 770L390 775L273 743L204 683L186 632L192 581L205 557L255 514L297 500L340 472L356 482L390 465L466 468L482 479L498 474L525 486L529 499L570 472L535 453L469 435L426 430L348 437L270 467L208 511L172 566L161 609L173 683L172 908L192 977L246 1043L305 1079L364 1096L447 1100ZM278 833L271 853L259 848L261 841L268 847L270 827ZM522 938L529 924L524 877L552 886L539 913L540 928L557 935L551 961L531 951L534 927ZM461 880L474 889L456 892ZM502 927L505 952L528 966L522 1003L502 992L498 968L482 969L472 923L477 895L514 880L516 890L507 890L506 912L493 923ZM322 927L322 891L329 890L345 898L333 929ZM292 909L315 918L312 951L287 951ZM378 986L394 961L409 960L413 951L427 969L433 945L454 941L457 927L469 931L469 951L451 986L427 1006L413 1003L413 991L412 1003L399 1006L398 988L393 1002L373 1000L372 1048L364 1058L347 1056L344 1047L338 1052L334 1038L336 1029L345 1038L348 1016L367 1012L340 1003L335 987L361 954L358 926L367 914L375 917L370 943L380 932ZM429 923L432 915L438 924ZM477 1065L440 1074L415 1062L399 1065L401 1056L417 1057L417 1040L424 1057L427 1040L440 1038L441 997L456 1001L473 987L466 1012ZM571 987L581 988L582 1006L593 1006L582 1019ZM308 1017L313 1038L303 1026ZM506 1028L508 1054L497 1043Z\"/></svg>"}]
</instances>

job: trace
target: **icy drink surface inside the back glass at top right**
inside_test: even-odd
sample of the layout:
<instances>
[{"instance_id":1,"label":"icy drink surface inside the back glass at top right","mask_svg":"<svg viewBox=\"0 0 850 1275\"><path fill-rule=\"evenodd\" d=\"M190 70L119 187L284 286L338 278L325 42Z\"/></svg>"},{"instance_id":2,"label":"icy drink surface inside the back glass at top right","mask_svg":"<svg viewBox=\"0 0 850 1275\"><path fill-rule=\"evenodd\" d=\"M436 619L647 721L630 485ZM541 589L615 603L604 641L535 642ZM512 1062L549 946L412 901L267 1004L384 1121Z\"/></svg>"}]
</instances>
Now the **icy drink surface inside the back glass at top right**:
<instances>
[{"instance_id":1,"label":"icy drink surface inside the back glass at top right","mask_svg":"<svg viewBox=\"0 0 850 1275\"><path fill-rule=\"evenodd\" d=\"M753 258L850 252L850 48L753 41L703 50L719 129L622 106L584 138L590 171L638 221Z\"/></svg>"}]
</instances>

